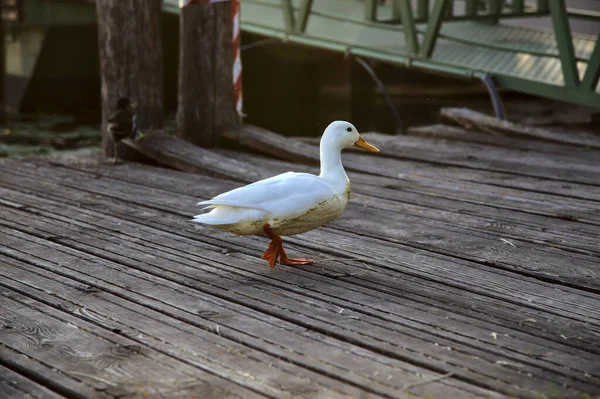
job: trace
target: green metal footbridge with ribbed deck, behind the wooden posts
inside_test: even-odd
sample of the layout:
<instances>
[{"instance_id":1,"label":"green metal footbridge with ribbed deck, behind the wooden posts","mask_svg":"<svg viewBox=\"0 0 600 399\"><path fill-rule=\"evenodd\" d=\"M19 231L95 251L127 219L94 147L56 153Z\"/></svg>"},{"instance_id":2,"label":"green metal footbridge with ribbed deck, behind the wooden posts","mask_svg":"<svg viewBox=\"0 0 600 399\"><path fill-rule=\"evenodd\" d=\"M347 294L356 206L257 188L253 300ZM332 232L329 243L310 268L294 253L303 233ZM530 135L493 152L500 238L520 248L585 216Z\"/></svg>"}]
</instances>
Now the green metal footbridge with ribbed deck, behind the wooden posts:
<instances>
[{"instance_id":1,"label":"green metal footbridge with ribbed deck, behind the wooden posts","mask_svg":"<svg viewBox=\"0 0 600 399\"><path fill-rule=\"evenodd\" d=\"M600 108L600 22L565 0L241 0L242 30L383 62L482 79L494 87ZM178 0L164 0L178 13ZM23 23L93 23L93 1L24 0ZM549 31L501 23L549 17ZM599 29L600 31L600 29Z\"/></svg>"}]
</instances>

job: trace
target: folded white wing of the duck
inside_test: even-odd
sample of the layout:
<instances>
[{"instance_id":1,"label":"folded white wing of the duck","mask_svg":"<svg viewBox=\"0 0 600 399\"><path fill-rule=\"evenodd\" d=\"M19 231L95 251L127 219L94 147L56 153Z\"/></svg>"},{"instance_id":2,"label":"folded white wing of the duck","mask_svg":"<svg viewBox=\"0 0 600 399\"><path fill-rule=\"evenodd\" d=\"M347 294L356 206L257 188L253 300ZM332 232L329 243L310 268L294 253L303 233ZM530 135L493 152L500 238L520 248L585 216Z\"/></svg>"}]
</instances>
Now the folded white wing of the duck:
<instances>
[{"instance_id":1,"label":"folded white wing of the duck","mask_svg":"<svg viewBox=\"0 0 600 399\"><path fill-rule=\"evenodd\" d=\"M287 172L236 188L198 205L228 205L294 217L335 194L327 183L315 175Z\"/></svg>"}]
</instances>

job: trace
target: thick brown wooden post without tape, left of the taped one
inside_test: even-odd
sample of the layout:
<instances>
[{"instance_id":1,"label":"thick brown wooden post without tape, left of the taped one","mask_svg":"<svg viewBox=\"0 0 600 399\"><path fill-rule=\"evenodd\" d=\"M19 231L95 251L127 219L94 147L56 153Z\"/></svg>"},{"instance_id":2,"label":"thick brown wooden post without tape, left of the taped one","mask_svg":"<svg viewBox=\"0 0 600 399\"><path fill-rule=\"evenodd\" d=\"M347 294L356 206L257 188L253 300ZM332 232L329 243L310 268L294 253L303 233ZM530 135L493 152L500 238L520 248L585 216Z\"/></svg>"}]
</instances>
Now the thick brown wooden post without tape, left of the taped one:
<instances>
[{"instance_id":1,"label":"thick brown wooden post without tape, left of the taped one","mask_svg":"<svg viewBox=\"0 0 600 399\"><path fill-rule=\"evenodd\" d=\"M134 105L138 129L161 129L164 124L161 0L97 0L96 8L102 147L106 156L113 156L106 124L119 98L129 98ZM133 155L123 145L118 152L121 158Z\"/></svg>"}]
</instances>

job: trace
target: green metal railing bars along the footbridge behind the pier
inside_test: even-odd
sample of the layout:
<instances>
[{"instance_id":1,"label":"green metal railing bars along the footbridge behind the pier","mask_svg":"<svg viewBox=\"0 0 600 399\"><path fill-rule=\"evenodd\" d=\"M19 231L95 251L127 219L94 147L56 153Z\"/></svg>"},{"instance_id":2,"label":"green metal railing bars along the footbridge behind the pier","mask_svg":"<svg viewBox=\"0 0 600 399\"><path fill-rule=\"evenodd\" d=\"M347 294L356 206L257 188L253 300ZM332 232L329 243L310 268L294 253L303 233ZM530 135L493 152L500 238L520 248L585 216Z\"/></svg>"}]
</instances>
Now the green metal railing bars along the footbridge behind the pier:
<instances>
[{"instance_id":1,"label":"green metal railing bars along the footbridge behind the pier","mask_svg":"<svg viewBox=\"0 0 600 399\"><path fill-rule=\"evenodd\" d=\"M282 16L285 20L285 40L320 47L338 47L337 43L322 39L314 39L310 32L310 18L313 15L323 16L319 11L313 11L313 0L280 0ZM600 76L600 35L589 57L577 56L573 46L573 35L569 26L569 18L600 21L600 13L576 10L566 7L564 0L537 0L534 4L524 0L392 0L389 6L382 7L377 0L364 1L364 15L362 21L353 20L354 23L364 23L365 26L385 26L396 28L403 35L405 42L404 51L396 54L386 54L377 49L362 48L348 45L344 51L360 54L362 56L379 60L400 62L451 74L469 75L473 77L486 76L491 73L500 86L517 91L529 92L550 98L600 107L598 93L598 80ZM379 18L379 11L386 9L387 18ZM391 11L391 12L390 12ZM557 54L547 54L535 49L523 49L517 45L503 45L498 43L477 43L475 40L465 40L442 33L442 27L448 23L478 22L481 24L495 24L502 19L543 17L551 18L554 37L556 40ZM329 15L330 18L335 18ZM265 33L265 32L262 32ZM514 54L529 54L538 57L558 58L562 70L562 84L555 82L536 81L518 76L518 70L503 75L494 71L479 70L475 66L461 65L457 70L456 65L445 64L443 59L434 57L440 38L455 43L471 45L474 52L486 48L498 51L512 52ZM581 75L580 63L585 64L585 72ZM514 72L514 73L513 73ZM515 76L517 75L517 76Z\"/></svg>"}]
</instances>

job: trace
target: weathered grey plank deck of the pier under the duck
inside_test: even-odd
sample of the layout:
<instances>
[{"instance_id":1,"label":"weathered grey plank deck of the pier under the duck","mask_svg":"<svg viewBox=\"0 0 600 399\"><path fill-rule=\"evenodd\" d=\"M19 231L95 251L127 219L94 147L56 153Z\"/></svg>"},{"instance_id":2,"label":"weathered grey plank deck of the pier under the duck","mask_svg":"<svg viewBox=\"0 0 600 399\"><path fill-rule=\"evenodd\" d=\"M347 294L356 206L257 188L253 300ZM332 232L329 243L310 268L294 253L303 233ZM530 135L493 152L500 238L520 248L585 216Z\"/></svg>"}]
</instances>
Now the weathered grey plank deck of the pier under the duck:
<instances>
[{"instance_id":1,"label":"weathered grey plank deck of the pier under the duck","mask_svg":"<svg viewBox=\"0 0 600 399\"><path fill-rule=\"evenodd\" d=\"M314 140L251 133L205 175L0 161L0 397L600 397L598 136L366 134L343 216L286 239L317 262L271 272L266 238L190 223L316 170Z\"/></svg>"}]
</instances>

